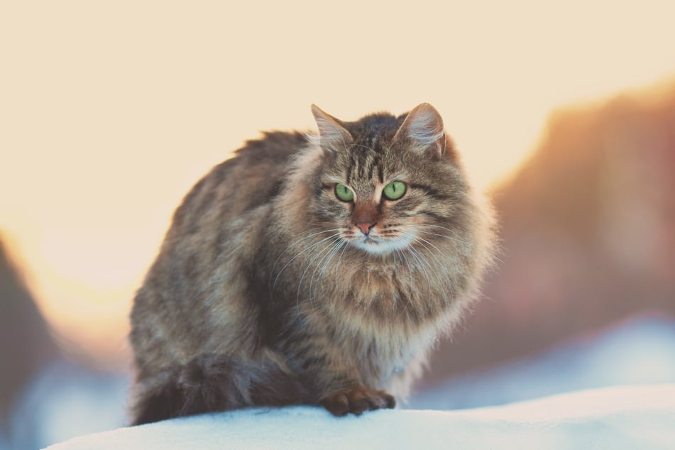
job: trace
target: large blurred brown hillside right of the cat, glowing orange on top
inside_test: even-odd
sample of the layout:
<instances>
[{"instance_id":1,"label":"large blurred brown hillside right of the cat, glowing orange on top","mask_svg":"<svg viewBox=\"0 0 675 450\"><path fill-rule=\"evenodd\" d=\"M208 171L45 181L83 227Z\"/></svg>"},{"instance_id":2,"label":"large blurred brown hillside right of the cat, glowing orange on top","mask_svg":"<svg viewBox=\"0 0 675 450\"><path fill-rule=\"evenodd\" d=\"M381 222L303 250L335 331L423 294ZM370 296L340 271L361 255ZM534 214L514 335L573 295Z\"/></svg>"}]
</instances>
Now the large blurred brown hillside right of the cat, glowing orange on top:
<instances>
[{"instance_id":1,"label":"large blurred brown hillside right of the cat, glowing orange on top","mask_svg":"<svg viewBox=\"0 0 675 450\"><path fill-rule=\"evenodd\" d=\"M495 192L497 273L427 383L647 310L675 316L675 84L560 111Z\"/></svg>"}]
</instances>

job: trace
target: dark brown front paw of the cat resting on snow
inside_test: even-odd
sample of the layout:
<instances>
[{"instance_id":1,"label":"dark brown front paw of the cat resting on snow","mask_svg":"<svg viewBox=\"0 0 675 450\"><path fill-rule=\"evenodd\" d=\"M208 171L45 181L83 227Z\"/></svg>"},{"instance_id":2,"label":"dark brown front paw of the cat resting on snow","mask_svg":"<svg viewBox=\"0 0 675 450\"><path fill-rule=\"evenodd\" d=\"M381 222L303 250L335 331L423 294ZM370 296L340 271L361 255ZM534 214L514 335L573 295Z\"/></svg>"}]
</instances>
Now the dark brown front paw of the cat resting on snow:
<instances>
[{"instance_id":1,"label":"dark brown front paw of the cat resting on snow","mask_svg":"<svg viewBox=\"0 0 675 450\"><path fill-rule=\"evenodd\" d=\"M350 412L360 415L364 411L393 408L396 400L383 390L373 390L366 386L351 386L326 395L321 405L334 416L344 416Z\"/></svg>"}]
</instances>

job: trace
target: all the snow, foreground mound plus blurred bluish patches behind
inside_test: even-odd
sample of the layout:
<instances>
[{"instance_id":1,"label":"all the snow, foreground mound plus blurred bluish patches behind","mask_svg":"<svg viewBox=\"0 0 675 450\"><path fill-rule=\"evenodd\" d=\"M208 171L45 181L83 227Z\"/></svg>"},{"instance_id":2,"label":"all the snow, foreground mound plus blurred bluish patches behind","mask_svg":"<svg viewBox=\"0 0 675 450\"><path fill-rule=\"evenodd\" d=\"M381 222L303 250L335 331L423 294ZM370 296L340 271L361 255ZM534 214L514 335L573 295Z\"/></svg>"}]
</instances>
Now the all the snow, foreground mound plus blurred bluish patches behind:
<instances>
[{"instance_id":1,"label":"all the snow, foreground mound plus blurred bluish patches behind","mask_svg":"<svg viewBox=\"0 0 675 450\"><path fill-rule=\"evenodd\" d=\"M451 379L414 393L407 410L361 417L295 407L124 428L128 383L128 374L46 371L23 395L0 450L90 433L52 448L574 448L586 441L583 448L675 449L675 322L659 316Z\"/></svg>"}]
</instances>

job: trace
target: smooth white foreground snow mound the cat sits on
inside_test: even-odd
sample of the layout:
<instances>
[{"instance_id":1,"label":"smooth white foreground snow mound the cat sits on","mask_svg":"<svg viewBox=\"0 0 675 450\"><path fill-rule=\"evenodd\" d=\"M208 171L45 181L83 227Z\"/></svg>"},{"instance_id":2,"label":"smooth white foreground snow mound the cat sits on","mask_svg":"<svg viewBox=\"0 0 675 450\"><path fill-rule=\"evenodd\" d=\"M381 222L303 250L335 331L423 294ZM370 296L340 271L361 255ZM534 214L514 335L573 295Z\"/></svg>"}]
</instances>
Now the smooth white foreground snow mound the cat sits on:
<instances>
[{"instance_id":1,"label":"smooth white foreground snow mound the cat sits on","mask_svg":"<svg viewBox=\"0 0 675 450\"><path fill-rule=\"evenodd\" d=\"M50 450L673 449L675 384L581 391L461 411L250 409L90 434Z\"/></svg>"}]
</instances>

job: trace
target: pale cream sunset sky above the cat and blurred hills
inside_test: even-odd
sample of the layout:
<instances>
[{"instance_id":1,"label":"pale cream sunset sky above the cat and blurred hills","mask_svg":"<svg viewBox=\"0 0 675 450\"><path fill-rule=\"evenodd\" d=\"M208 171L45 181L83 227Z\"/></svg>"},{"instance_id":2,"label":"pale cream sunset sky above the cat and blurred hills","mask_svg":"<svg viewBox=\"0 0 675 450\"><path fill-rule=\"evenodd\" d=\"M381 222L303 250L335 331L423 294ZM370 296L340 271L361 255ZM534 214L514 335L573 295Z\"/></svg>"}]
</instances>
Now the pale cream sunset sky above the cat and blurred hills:
<instances>
[{"instance_id":1,"label":"pale cream sunset sky above the cat and blurred hills","mask_svg":"<svg viewBox=\"0 0 675 450\"><path fill-rule=\"evenodd\" d=\"M620 3L620 4L619 4ZM428 101L474 185L551 111L675 77L671 1L0 5L0 234L57 334L126 347L173 209L269 129Z\"/></svg>"}]
</instances>

